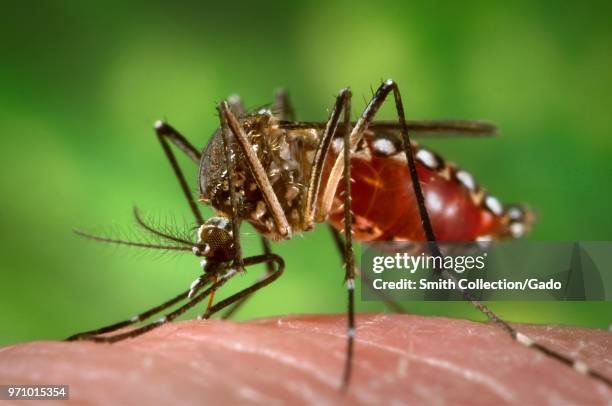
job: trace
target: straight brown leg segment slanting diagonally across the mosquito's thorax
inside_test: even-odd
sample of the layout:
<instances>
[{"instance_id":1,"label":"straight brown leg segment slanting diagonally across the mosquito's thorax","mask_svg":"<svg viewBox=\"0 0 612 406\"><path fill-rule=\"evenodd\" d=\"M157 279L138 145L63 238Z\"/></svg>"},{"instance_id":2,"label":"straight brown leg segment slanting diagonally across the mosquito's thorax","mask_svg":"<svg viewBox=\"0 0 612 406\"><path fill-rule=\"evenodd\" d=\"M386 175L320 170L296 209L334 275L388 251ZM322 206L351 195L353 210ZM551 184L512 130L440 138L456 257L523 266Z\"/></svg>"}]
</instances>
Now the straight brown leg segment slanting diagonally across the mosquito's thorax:
<instances>
[{"instance_id":1,"label":"straight brown leg segment slanting diagonally across the mosquito's thorax","mask_svg":"<svg viewBox=\"0 0 612 406\"><path fill-rule=\"evenodd\" d=\"M261 165L257 154L255 151L253 151L253 148L249 143L249 139L244 133L244 129L240 125L240 122L231 112L227 102L222 102L219 105L219 113L221 121L226 123L226 126L229 127L234 139L236 140L236 143L247 160L249 169L251 170L253 177L255 178L255 182L263 195L270 213L272 214L279 234L284 238L291 238L291 227L289 226L287 217L285 217L283 208L279 203L278 197L274 193L274 190L272 189L272 185L270 184L270 179Z\"/></svg>"}]
</instances>

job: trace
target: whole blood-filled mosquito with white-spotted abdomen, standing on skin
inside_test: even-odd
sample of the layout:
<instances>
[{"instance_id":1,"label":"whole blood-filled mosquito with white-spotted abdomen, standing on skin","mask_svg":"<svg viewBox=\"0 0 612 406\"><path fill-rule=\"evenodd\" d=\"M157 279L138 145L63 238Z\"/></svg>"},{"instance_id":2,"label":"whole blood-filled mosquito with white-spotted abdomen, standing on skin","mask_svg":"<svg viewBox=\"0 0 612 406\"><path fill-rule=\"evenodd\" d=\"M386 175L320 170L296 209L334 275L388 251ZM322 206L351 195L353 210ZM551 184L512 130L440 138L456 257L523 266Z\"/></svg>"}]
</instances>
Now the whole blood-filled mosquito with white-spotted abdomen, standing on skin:
<instances>
[{"instance_id":1,"label":"whole blood-filled mosquito with white-spotted abdomen, standing on skin","mask_svg":"<svg viewBox=\"0 0 612 406\"><path fill-rule=\"evenodd\" d=\"M389 95L397 121L374 121ZM327 222L343 258L347 290L347 344L342 388L348 388L355 341L355 261L353 240L425 241L434 256L442 256L439 241L480 241L519 238L534 222L522 205L503 205L467 171L411 140L413 135L489 136L495 126L478 121L407 121L397 84L384 81L356 122L351 121L350 89L339 92L326 122L295 121L285 92L271 108L245 112L237 97L218 105L220 126L200 152L170 124L158 121L155 131L197 223L194 240L179 238L147 224L137 210L136 222L167 244L112 239L77 231L97 241L149 249L192 252L201 258L203 274L176 297L128 320L75 334L68 340L112 343L136 337L185 313L208 298L208 319L225 310L230 317L247 298L278 279L285 269L270 241L288 240ZM199 166L199 196L171 148L174 144ZM198 201L216 215L204 219ZM261 235L263 254L244 258L241 222ZM266 264L251 286L215 303L214 294L247 267ZM447 279L454 276L435 270ZM461 290L461 289L460 289ZM531 347L576 371L612 387L612 380L584 362L551 350L498 317L469 291L461 291L495 325L518 343ZM186 301L163 317L127 331L117 330L145 321ZM386 300L395 310L398 304ZM114 334L109 334L114 333Z\"/></svg>"}]
</instances>

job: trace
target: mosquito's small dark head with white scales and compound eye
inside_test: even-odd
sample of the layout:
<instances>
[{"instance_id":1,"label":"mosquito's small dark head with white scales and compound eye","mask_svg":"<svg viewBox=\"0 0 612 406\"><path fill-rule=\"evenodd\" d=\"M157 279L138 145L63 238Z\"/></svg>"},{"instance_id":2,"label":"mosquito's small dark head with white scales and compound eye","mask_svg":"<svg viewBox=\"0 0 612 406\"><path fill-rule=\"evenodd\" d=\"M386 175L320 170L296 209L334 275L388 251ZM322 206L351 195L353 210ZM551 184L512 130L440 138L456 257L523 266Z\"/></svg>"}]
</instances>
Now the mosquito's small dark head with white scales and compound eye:
<instances>
[{"instance_id":1,"label":"mosquito's small dark head with white scales and compound eye","mask_svg":"<svg viewBox=\"0 0 612 406\"><path fill-rule=\"evenodd\" d=\"M196 256L219 262L234 258L232 222L226 217L211 217L197 231L197 244L193 247Z\"/></svg>"}]
</instances>

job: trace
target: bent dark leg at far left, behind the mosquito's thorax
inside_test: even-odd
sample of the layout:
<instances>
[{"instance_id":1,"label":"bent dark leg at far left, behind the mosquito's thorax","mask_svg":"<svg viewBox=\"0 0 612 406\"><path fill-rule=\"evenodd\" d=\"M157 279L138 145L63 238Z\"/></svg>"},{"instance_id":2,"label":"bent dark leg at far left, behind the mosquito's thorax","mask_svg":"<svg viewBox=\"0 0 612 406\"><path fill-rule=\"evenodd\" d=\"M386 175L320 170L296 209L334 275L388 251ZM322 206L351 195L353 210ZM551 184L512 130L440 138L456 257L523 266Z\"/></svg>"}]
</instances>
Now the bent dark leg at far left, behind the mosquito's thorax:
<instances>
[{"instance_id":1,"label":"bent dark leg at far left, behind the mosquito's thorax","mask_svg":"<svg viewBox=\"0 0 612 406\"><path fill-rule=\"evenodd\" d=\"M170 148L170 142L176 145L181 151L183 151L192 161L196 164L200 162L200 152L187 141L185 137L183 137L178 131L176 131L172 126L163 121L157 121L155 123L155 132L157 133L157 138L161 143L162 149L170 161L170 166L174 170L174 174L181 185L181 189L183 190L183 194L189 203L189 207L191 212L193 213L198 225L204 223L204 218L202 217L202 213L200 213L200 209L196 204L193 195L191 194L191 190L189 189L189 185L187 184L187 180L185 179L185 175L179 166L176 156L174 156L174 152Z\"/></svg>"}]
</instances>

